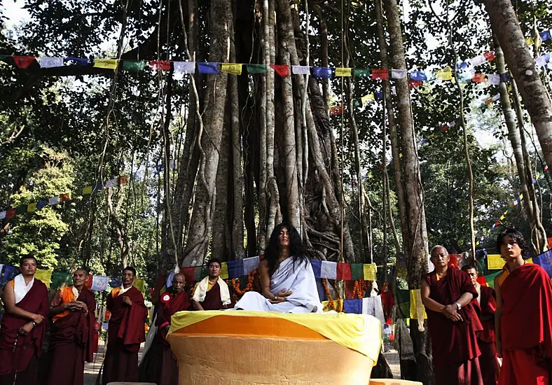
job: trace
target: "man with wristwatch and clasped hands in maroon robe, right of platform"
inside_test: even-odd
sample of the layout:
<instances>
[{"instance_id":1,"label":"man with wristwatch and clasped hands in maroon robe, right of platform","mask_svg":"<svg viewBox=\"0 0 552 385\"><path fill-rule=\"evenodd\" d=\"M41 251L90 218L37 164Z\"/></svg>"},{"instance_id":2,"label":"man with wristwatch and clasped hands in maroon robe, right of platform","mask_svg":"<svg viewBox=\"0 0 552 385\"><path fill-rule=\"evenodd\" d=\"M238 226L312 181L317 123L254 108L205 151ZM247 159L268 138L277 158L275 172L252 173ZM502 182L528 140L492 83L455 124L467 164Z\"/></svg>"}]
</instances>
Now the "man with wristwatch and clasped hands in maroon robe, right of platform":
<instances>
[{"instance_id":1,"label":"man with wristwatch and clasped hands in maroon robe, right of platform","mask_svg":"<svg viewBox=\"0 0 552 385\"><path fill-rule=\"evenodd\" d=\"M477 332L483 330L471 301L478 297L468 274L449 268L446 248L431 251L435 266L422 280L422 302L432 337L436 385L483 385Z\"/></svg>"}]
</instances>

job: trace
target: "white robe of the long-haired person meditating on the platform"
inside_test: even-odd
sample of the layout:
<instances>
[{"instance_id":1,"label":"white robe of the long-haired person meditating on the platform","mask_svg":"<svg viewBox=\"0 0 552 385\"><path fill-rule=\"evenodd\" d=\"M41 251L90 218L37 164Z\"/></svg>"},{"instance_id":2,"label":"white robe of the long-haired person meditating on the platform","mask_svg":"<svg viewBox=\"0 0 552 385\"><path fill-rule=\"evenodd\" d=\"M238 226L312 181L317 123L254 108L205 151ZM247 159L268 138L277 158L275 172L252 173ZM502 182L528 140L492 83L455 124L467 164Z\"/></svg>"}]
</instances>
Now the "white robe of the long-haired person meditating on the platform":
<instances>
[{"instance_id":1,"label":"white robe of the long-haired person meditating on the platform","mask_svg":"<svg viewBox=\"0 0 552 385\"><path fill-rule=\"evenodd\" d=\"M249 291L237 302L234 309L251 311L276 311L277 313L321 313L322 304L318 297L315 272L310 261L297 261L287 258L270 277L270 292L276 294L281 290L293 293L286 301L272 304L260 293Z\"/></svg>"}]
</instances>

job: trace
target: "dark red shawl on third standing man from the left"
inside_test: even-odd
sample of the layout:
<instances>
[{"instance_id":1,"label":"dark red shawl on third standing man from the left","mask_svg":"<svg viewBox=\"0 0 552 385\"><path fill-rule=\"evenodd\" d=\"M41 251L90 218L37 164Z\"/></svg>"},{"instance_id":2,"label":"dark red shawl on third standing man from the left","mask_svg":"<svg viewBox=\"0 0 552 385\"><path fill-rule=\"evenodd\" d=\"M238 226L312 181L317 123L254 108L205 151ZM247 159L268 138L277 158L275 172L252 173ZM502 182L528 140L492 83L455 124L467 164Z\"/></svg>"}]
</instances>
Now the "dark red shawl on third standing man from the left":
<instances>
[{"instance_id":1,"label":"dark red shawl on third standing man from the left","mask_svg":"<svg viewBox=\"0 0 552 385\"><path fill-rule=\"evenodd\" d=\"M113 297L113 295L115 295ZM123 297L132 300L132 306L123 302ZM122 295L112 290L107 297L106 307L111 311L109 320L107 346L115 344L118 339L123 340L125 349L136 353L140 344L146 340L144 323L148 316L148 309L144 304L144 296L137 288L130 288Z\"/></svg>"}]
</instances>

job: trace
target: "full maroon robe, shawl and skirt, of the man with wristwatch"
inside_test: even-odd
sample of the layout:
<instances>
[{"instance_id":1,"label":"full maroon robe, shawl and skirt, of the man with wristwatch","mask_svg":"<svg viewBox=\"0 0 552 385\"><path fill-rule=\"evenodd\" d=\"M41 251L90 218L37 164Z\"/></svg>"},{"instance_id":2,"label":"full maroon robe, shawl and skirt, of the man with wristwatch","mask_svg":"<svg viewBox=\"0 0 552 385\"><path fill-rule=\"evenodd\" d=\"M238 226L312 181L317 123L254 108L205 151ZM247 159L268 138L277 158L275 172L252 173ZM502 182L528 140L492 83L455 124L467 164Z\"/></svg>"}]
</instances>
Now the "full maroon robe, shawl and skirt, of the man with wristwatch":
<instances>
[{"instance_id":1,"label":"full maroon robe, shawl and skirt, of the man with wristwatch","mask_svg":"<svg viewBox=\"0 0 552 385\"><path fill-rule=\"evenodd\" d=\"M440 304L453 304L462 294L477 297L468 274L448 267L446 276L437 280L435 271L426 275L429 297ZM427 310L429 335L432 338L435 384L482 385L478 356L477 332L483 327L469 303L458 313L463 321L453 322L437 311Z\"/></svg>"}]
</instances>

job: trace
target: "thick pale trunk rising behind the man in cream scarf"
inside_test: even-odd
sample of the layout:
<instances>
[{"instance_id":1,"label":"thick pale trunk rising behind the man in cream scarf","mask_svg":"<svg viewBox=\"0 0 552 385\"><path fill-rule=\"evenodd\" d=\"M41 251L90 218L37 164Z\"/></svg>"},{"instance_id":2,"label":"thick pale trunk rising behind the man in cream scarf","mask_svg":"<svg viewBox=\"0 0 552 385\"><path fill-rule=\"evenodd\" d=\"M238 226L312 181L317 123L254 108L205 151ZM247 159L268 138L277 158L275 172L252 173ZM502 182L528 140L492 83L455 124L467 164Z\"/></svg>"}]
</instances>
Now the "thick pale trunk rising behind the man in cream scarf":
<instances>
[{"instance_id":1,"label":"thick pale trunk rising behind the man in cream scarf","mask_svg":"<svg viewBox=\"0 0 552 385\"><path fill-rule=\"evenodd\" d=\"M212 0L210 23L210 62L228 62L231 22L230 0ZM219 73L207 78L204 125L196 140L200 148L200 181L196 188L194 208L184 251L184 266L202 262L212 232L216 202L216 174L219 168L219 148L223 133L228 75ZM225 160L226 161L226 160Z\"/></svg>"}]
</instances>

